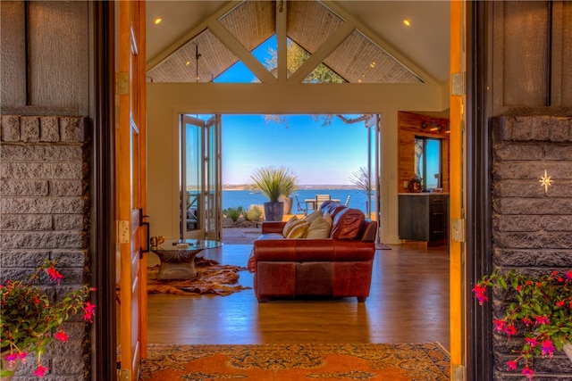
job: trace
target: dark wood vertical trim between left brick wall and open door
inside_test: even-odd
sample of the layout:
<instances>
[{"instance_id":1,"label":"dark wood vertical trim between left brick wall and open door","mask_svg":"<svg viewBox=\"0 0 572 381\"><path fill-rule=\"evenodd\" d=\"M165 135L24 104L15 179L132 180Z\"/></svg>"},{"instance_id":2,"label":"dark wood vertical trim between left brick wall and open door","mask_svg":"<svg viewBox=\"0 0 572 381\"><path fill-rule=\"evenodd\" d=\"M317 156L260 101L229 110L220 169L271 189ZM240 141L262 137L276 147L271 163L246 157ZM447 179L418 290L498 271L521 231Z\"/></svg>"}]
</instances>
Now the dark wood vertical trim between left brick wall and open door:
<instances>
[{"instance_id":1,"label":"dark wood vertical trim between left brick wall and open door","mask_svg":"<svg viewBox=\"0 0 572 381\"><path fill-rule=\"evenodd\" d=\"M114 201L114 2L94 2L92 273L97 287L92 380L116 378Z\"/></svg>"}]
</instances>

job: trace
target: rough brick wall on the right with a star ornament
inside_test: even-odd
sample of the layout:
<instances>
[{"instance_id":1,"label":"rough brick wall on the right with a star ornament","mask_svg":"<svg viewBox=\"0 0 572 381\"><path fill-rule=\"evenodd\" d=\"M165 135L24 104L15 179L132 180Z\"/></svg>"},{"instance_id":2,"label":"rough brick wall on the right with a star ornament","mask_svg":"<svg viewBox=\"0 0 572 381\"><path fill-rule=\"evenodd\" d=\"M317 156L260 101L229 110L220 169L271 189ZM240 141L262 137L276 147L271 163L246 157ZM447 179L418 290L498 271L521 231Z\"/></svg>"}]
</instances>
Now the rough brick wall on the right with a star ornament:
<instances>
[{"instance_id":1,"label":"rough brick wall on the right with a star ornament","mask_svg":"<svg viewBox=\"0 0 572 381\"><path fill-rule=\"evenodd\" d=\"M493 121L492 259L495 267L543 274L572 269L572 118L518 116ZM544 192L544 170L553 183ZM493 315L504 315L495 294ZM491 323L492 324L492 323ZM495 380L521 379L507 372L510 351L522 339L495 334ZM563 353L535 358L535 380L571 380Z\"/></svg>"}]
</instances>

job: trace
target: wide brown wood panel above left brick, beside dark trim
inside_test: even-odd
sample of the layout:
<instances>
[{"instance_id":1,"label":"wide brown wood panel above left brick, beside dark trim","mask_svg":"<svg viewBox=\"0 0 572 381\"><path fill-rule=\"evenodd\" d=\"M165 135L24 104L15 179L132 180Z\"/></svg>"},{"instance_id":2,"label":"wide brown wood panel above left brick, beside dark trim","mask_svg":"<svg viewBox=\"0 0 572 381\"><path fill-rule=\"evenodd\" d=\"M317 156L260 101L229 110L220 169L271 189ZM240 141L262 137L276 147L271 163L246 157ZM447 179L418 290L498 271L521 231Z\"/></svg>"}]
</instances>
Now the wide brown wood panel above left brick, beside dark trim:
<instances>
[{"instance_id":1,"label":"wide brown wood panel above left brick, beside dark trim","mask_svg":"<svg viewBox=\"0 0 572 381\"><path fill-rule=\"evenodd\" d=\"M29 104L87 115L88 2L30 2L28 35Z\"/></svg>"}]
</instances>

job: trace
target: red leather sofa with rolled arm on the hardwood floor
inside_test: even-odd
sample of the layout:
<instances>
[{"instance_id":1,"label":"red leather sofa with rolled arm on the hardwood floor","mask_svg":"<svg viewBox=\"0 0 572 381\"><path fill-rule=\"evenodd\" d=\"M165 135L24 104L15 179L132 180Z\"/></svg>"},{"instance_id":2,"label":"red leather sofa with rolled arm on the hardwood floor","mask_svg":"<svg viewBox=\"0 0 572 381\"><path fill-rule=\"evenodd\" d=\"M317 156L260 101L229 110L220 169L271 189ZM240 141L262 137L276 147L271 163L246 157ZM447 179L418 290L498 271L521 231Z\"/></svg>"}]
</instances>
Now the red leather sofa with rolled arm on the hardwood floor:
<instances>
[{"instance_id":1,"label":"red leather sofa with rolled arm on the hardwood floor","mask_svg":"<svg viewBox=\"0 0 572 381\"><path fill-rule=\"evenodd\" d=\"M329 238L285 238L286 222L264 222L248 270L258 302L297 296L369 296L377 223L341 203L320 207L332 217Z\"/></svg>"}]
</instances>

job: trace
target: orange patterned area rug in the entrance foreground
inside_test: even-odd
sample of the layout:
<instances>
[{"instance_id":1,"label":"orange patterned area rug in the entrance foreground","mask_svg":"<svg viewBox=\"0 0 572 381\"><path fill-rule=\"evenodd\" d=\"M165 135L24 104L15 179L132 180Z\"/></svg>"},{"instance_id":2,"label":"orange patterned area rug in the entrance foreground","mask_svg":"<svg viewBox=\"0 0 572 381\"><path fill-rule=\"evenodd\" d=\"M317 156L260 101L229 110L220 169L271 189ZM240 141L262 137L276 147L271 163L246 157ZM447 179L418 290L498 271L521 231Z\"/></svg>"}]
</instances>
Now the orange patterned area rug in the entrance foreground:
<instances>
[{"instance_id":1,"label":"orange patterned area rug in the entrance foreground","mask_svg":"<svg viewBox=\"0 0 572 381\"><path fill-rule=\"evenodd\" d=\"M446 381L441 344L149 344L141 379Z\"/></svg>"}]
</instances>

